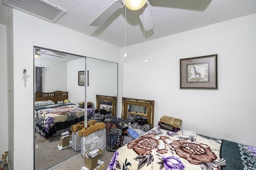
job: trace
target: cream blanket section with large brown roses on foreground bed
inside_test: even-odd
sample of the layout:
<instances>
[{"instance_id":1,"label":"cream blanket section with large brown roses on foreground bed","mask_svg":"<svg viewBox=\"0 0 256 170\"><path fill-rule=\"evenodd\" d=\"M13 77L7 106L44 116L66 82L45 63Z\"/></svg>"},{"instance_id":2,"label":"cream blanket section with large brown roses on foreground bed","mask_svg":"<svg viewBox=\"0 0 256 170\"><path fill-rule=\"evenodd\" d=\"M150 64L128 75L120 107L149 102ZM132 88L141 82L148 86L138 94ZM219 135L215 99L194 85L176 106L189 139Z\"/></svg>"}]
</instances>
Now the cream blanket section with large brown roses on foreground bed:
<instances>
[{"instance_id":1,"label":"cream blanket section with large brown roses on foreground bed","mask_svg":"<svg viewBox=\"0 0 256 170\"><path fill-rule=\"evenodd\" d=\"M155 127L116 150L108 170L220 170L220 141Z\"/></svg>"}]
</instances>

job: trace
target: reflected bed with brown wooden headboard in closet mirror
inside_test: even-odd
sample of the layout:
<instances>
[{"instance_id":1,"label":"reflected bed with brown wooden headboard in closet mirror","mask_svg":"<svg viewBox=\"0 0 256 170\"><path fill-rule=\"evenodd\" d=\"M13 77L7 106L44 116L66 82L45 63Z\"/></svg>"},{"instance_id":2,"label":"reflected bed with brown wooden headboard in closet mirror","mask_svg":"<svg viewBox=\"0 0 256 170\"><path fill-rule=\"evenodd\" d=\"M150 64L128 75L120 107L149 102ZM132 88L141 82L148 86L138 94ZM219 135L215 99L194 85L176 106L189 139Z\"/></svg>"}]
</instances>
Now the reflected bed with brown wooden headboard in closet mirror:
<instances>
[{"instance_id":1,"label":"reflected bed with brown wooden headboard in closet mirror","mask_svg":"<svg viewBox=\"0 0 256 170\"><path fill-rule=\"evenodd\" d=\"M68 100L68 92L36 92L34 117L36 131L49 139L70 131L71 125L83 121L84 109Z\"/></svg>"}]
</instances>

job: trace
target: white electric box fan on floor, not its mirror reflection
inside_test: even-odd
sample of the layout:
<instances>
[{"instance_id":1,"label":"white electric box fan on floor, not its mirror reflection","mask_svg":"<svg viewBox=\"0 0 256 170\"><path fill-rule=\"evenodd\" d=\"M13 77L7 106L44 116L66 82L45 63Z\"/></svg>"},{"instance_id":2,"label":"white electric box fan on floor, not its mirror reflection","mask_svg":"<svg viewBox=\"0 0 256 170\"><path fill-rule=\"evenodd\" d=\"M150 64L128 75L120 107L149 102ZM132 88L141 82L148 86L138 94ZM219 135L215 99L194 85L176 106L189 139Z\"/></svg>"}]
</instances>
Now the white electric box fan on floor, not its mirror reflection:
<instances>
[{"instance_id":1,"label":"white electric box fan on floor, not its mirror reflection","mask_svg":"<svg viewBox=\"0 0 256 170\"><path fill-rule=\"evenodd\" d=\"M100 129L81 137L81 154L85 157L85 153L89 150L104 149L106 147L106 130Z\"/></svg>"}]
</instances>

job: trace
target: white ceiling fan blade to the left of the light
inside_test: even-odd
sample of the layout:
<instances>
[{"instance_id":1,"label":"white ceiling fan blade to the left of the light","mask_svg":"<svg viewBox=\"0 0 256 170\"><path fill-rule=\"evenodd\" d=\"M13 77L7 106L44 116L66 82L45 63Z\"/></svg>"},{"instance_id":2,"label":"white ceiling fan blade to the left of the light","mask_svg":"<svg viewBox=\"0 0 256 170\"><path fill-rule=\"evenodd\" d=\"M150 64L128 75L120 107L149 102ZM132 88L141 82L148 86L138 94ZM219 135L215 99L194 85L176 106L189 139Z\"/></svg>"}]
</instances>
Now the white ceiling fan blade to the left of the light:
<instances>
[{"instance_id":1,"label":"white ceiling fan blade to the left of the light","mask_svg":"<svg viewBox=\"0 0 256 170\"><path fill-rule=\"evenodd\" d=\"M98 15L89 25L98 27L102 22L108 19L118 8L123 5L122 1L115 0L108 8Z\"/></svg>"}]
</instances>

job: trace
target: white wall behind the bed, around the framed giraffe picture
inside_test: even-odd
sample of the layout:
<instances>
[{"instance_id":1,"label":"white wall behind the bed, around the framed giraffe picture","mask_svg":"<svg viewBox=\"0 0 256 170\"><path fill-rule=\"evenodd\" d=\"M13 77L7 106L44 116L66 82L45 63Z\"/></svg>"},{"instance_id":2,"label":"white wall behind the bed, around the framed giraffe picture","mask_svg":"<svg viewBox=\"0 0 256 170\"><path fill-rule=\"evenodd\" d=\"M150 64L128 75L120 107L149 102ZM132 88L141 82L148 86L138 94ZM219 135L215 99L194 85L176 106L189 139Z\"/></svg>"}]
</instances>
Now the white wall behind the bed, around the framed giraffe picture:
<instances>
[{"instance_id":1,"label":"white wall behind the bed, around the framed giraffe picture","mask_svg":"<svg viewBox=\"0 0 256 170\"><path fill-rule=\"evenodd\" d=\"M126 47L122 97L155 101L182 128L256 146L256 14ZM121 56L124 48L121 50ZM218 54L218 90L180 89L180 59ZM120 102L118 103L120 105Z\"/></svg>"}]
</instances>

